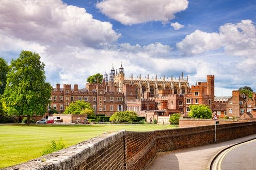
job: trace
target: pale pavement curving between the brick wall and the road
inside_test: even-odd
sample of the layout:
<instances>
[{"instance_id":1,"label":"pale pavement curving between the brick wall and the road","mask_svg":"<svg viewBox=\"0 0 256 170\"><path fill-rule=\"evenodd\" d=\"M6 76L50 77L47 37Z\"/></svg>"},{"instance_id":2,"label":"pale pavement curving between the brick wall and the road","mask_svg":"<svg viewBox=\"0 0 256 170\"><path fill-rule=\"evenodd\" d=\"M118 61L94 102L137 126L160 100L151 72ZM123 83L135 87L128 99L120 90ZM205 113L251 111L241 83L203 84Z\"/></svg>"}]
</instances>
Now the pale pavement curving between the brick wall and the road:
<instances>
[{"instance_id":1,"label":"pale pavement curving between the brick wall and the road","mask_svg":"<svg viewBox=\"0 0 256 170\"><path fill-rule=\"evenodd\" d=\"M210 169L210 164L213 161L213 158L218 153L220 153L221 150L237 143L245 142L255 138L256 134L216 144L190 147L180 150L174 150L172 152L160 152L157 153L156 158L147 169Z\"/></svg>"}]
</instances>

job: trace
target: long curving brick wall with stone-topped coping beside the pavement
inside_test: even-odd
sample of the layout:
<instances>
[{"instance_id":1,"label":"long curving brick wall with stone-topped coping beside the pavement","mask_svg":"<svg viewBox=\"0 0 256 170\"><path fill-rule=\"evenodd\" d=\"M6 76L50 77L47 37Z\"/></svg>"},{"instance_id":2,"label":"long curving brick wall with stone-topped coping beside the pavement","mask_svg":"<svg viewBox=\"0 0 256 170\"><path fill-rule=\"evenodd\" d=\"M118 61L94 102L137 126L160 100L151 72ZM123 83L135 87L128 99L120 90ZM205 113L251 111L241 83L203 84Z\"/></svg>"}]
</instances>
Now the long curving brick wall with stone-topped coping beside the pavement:
<instances>
[{"instance_id":1,"label":"long curving brick wall with stone-topped coping beside the pavement","mask_svg":"<svg viewBox=\"0 0 256 170\"><path fill-rule=\"evenodd\" d=\"M219 124L217 142L256 134L256 122ZM148 132L119 131L6 169L146 169L156 152L215 142L214 125Z\"/></svg>"}]
</instances>

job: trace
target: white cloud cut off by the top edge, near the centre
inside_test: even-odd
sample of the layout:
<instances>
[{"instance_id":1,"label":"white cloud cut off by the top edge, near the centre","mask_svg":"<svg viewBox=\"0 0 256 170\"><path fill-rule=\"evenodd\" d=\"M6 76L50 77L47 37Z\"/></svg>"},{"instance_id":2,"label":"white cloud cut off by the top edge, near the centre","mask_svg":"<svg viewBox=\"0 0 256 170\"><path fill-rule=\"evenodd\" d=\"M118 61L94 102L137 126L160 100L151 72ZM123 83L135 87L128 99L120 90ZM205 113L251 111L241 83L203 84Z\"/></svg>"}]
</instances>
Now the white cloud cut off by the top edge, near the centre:
<instances>
[{"instance_id":1,"label":"white cloud cut off by the top edge, near the centre","mask_svg":"<svg viewBox=\"0 0 256 170\"><path fill-rule=\"evenodd\" d=\"M187 8L187 0L104 0L96 7L105 15L124 25L149 21L168 22L175 18L175 13Z\"/></svg>"}]
</instances>

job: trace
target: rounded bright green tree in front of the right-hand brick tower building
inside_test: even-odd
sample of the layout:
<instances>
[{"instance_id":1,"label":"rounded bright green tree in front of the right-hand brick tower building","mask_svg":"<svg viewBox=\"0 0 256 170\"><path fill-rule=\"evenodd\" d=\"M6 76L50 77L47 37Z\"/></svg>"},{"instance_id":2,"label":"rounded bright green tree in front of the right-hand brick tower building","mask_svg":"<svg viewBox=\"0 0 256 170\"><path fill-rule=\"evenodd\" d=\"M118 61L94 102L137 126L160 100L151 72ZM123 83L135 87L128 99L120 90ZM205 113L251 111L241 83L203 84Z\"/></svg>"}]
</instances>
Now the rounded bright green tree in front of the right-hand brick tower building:
<instances>
[{"instance_id":1,"label":"rounded bright green tree in front of the right-hand brick tower building","mask_svg":"<svg viewBox=\"0 0 256 170\"><path fill-rule=\"evenodd\" d=\"M190 105L189 106L190 112L188 116L191 118L200 118L200 119L210 119L212 118L212 111L211 109L203 104L199 105Z\"/></svg>"}]
</instances>

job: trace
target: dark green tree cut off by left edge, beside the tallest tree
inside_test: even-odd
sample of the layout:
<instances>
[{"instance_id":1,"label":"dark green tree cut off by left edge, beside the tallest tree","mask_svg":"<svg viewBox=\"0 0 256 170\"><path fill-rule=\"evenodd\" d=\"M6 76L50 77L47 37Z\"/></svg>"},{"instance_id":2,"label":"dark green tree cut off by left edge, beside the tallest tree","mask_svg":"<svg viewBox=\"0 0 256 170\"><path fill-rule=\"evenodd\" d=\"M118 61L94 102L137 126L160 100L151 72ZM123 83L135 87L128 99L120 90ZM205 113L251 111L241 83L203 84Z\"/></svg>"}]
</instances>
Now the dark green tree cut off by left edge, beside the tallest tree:
<instances>
[{"instance_id":1,"label":"dark green tree cut off by left edge, beside the tallest tree","mask_svg":"<svg viewBox=\"0 0 256 170\"><path fill-rule=\"evenodd\" d=\"M7 62L3 58L0 58L0 96L5 92L8 71L9 66Z\"/></svg>"}]
</instances>

